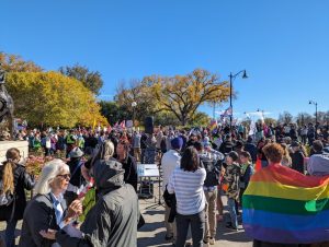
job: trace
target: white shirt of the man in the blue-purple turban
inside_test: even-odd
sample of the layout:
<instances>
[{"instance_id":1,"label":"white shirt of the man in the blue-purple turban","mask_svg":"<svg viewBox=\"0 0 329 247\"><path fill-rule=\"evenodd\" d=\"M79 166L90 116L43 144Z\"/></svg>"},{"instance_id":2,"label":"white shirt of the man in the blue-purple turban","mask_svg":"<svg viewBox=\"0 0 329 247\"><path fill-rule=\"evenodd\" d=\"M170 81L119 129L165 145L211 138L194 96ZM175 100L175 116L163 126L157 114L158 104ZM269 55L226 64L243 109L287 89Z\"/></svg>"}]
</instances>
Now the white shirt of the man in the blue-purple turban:
<instances>
[{"instance_id":1,"label":"white shirt of the man in the blue-purple turban","mask_svg":"<svg viewBox=\"0 0 329 247\"><path fill-rule=\"evenodd\" d=\"M181 166L181 155L175 150L169 150L166 152L161 160L162 167L162 191L166 190L166 185L169 183L169 178L171 177L172 172L175 167Z\"/></svg>"}]
</instances>

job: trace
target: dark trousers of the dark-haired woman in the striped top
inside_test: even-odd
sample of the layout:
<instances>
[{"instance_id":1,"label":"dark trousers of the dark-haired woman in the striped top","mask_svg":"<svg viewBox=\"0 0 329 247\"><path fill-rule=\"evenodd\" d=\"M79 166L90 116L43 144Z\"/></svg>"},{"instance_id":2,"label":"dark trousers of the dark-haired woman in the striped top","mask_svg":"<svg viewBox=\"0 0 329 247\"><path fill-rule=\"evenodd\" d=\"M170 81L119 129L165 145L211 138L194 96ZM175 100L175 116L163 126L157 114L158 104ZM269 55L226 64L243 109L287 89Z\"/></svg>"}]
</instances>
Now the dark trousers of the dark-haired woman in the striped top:
<instances>
[{"instance_id":1,"label":"dark trousers of the dark-haired woman in the striped top","mask_svg":"<svg viewBox=\"0 0 329 247\"><path fill-rule=\"evenodd\" d=\"M175 247L184 247L186 242L186 235L189 226L191 225L193 247L203 246L203 235L205 227L205 213L202 210L200 213L192 215L177 214L177 239Z\"/></svg>"}]
</instances>

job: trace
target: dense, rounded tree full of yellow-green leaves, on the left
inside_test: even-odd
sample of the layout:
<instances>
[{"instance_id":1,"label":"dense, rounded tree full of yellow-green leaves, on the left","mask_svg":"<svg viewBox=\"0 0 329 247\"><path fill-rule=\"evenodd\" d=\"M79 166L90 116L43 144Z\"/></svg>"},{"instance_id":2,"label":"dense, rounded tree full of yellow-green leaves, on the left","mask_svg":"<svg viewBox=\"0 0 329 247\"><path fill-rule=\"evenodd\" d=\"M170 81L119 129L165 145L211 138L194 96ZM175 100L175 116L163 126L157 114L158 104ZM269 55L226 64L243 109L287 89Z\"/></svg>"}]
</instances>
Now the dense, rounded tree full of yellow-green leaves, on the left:
<instances>
[{"instance_id":1,"label":"dense, rounded tree full of yellow-green leaves, on the left","mask_svg":"<svg viewBox=\"0 0 329 247\"><path fill-rule=\"evenodd\" d=\"M13 72L7 77L14 116L31 126L106 125L94 95L79 81L57 72Z\"/></svg>"}]
</instances>

